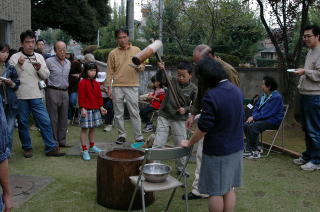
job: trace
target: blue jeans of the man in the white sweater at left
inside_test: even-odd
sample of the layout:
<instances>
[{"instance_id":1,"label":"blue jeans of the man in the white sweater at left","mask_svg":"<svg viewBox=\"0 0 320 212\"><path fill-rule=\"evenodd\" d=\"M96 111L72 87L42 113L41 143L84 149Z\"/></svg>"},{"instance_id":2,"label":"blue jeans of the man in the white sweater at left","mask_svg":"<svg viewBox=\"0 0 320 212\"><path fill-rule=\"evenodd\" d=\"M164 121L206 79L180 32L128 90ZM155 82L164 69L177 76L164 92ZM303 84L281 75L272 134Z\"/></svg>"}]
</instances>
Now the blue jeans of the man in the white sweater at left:
<instances>
[{"instance_id":1,"label":"blue jeans of the man in the white sweater at left","mask_svg":"<svg viewBox=\"0 0 320 212\"><path fill-rule=\"evenodd\" d=\"M51 121L42 99L19 99L19 137L22 149L32 149L31 137L29 133L29 114L32 116L40 128L40 133L45 144L45 152L50 152L57 147L53 139Z\"/></svg>"}]
</instances>

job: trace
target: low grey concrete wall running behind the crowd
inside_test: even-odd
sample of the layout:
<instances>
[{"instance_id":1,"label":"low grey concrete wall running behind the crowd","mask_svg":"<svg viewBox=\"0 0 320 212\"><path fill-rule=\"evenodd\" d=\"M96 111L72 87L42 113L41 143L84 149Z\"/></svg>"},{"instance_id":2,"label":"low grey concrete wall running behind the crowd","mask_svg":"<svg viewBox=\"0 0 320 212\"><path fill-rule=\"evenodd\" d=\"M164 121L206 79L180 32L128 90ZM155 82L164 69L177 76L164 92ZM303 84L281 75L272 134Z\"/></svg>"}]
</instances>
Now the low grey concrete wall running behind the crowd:
<instances>
[{"instance_id":1,"label":"low grey concrete wall running behind the crowd","mask_svg":"<svg viewBox=\"0 0 320 212\"><path fill-rule=\"evenodd\" d=\"M97 61L100 71L106 71L107 65L105 63ZM260 94L262 79L264 76L272 76L276 79L279 85L279 91L283 91L284 87L282 82L282 76L276 68L237 68L240 76L240 88L245 98L252 98L255 94ZM168 67L167 72L169 75L175 75L175 69ZM140 74L140 86L139 93L145 94L151 90L147 88L151 77L156 73L154 67L147 67L144 72ZM195 77L194 77L195 78ZM193 78L193 82L196 83L196 79Z\"/></svg>"}]
</instances>

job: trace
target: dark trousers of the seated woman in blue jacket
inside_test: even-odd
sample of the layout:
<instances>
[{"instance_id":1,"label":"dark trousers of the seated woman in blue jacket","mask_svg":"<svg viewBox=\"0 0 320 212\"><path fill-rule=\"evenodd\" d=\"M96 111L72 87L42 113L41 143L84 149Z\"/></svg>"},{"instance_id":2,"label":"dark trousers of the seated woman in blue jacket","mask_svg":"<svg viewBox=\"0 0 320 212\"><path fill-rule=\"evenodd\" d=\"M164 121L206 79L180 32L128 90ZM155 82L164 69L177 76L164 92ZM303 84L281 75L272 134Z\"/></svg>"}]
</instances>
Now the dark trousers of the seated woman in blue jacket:
<instances>
[{"instance_id":1,"label":"dark trousers of the seated woman in blue jacket","mask_svg":"<svg viewBox=\"0 0 320 212\"><path fill-rule=\"evenodd\" d=\"M245 123L244 134L246 135L246 138L247 138L246 149L248 151L257 151L259 134L265 130L276 130L278 128L279 128L279 125L274 125L266 121L256 121L252 123Z\"/></svg>"}]
</instances>

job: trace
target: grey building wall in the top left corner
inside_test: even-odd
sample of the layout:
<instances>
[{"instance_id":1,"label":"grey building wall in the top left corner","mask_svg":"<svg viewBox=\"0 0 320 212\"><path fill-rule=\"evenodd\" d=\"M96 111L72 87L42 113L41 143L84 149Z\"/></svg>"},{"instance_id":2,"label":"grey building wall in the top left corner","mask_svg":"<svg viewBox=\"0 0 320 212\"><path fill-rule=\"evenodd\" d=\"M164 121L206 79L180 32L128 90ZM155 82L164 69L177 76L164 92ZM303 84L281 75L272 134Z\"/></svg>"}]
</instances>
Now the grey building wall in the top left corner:
<instances>
[{"instance_id":1,"label":"grey building wall in the top left corner","mask_svg":"<svg viewBox=\"0 0 320 212\"><path fill-rule=\"evenodd\" d=\"M20 33L31 29L30 0L0 0L0 21L9 23L7 35L11 48L20 47ZM5 41L5 40L3 40Z\"/></svg>"}]
</instances>

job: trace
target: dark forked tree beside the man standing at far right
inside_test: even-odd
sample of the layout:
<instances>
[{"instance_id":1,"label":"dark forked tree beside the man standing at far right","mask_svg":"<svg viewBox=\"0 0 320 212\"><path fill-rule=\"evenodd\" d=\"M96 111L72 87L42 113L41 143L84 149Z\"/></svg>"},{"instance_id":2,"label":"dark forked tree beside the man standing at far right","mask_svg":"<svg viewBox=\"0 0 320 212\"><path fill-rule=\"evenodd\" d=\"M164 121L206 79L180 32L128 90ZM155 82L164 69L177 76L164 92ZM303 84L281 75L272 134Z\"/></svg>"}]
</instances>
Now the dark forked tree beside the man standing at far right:
<instances>
[{"instance_id":1,"label":"dark forked tree beside the man standing at far right","mask_svg":"<svg viewBox=\"0 0 320 212\"><path fill-rule=\"evenodd\" d=\"M295 123L294 105L297 94L297 77L285 70L297 68L300 65L303 28L309 22L309 10L315 0L256 0L256 2L259 6L261 22L274 44L279 68L283 73L283 82L287 88L285 99L290 105L288 119L290 123ZM268 8L271 8L269 24L266 20ZM294 39L295 29L298 31L298 39ZM290 49L290 46L293 48Z\"/></svg>"}]
</instances>

